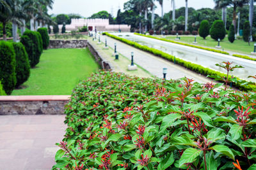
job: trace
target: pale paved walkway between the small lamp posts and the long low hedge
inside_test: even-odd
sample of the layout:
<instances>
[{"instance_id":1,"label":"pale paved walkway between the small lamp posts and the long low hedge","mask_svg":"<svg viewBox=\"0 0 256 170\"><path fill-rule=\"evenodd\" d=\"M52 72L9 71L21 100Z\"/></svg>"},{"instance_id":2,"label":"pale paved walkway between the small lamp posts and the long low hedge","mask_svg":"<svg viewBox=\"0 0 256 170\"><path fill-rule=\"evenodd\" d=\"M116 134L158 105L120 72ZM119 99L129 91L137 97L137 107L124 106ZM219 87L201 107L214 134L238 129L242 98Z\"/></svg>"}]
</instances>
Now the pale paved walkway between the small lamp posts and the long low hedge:
<instances>
[{"instance_id":1,"label":"pale paved walkway between the small lamp posts and the long low hedge","mask_svg":"<svg viewBox=\"0 0 256 170\"><path fill-rule=\"evenodd\" d=\"M104 36L104 38L101 39L105 38L107 38L108 45L111 46L111 48L114 48L114 43L116 43L116 51L118 53L121 53L128 59L131 59L131 52L134 52L134 63L139 64L148 72L159 78L163 78L163 67L166 67L168 69L166 74L166 78L168 80L170 78L178 79L186 76L188 78L193 78L195 81L198 81L199 83L206 83L212 81L211 79L206 78L205 76L201 76L199 74L193 73L192 71L184 67L178 66L177 64L173 64L173 62L161 59L160 57L156 57L151 53L138 50L138 48L134 48L116 39L109 38L108 36Z\"/></svg>"}]
</instances>

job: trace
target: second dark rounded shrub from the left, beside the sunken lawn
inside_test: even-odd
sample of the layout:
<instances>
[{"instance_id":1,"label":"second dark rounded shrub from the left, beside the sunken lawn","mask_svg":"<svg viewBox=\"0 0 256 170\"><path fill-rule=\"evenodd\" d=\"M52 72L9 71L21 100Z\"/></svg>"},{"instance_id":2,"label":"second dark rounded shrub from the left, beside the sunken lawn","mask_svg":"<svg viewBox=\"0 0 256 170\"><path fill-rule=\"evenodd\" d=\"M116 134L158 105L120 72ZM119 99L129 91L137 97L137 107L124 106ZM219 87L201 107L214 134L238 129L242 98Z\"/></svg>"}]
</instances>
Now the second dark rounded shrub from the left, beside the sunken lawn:
<instances>
[{"instance_id":1,"label":"second dark rounded shrub from the left, beside the sunken lawn","mask_svg":"<svg viewBox=\"0 0 256 170\"><path fill-rule=\"evenodd\" d=\"M16 59L16 79L17 83L15 87L19 87L28 80L30 74L30 65L28 61L28 54L22 45L22 43L13 43Z\"/></svg>"}]
</instances>

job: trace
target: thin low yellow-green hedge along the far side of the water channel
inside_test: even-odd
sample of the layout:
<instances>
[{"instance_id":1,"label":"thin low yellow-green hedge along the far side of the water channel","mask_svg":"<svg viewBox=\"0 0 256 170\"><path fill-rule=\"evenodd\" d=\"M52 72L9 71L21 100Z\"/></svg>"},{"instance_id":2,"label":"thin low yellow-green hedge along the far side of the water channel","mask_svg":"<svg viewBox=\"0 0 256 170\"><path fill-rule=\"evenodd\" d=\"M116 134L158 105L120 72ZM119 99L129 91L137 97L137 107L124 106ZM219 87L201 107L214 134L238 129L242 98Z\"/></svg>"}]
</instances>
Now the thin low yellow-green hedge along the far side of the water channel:
<instances>
[{"instance_id":1,"label":"thin low yellow-green hedge along the far side of the water channel","mask_svg":"<svg viewBox=\"0 0 256 170\"><path fill-rule=\"evenodd\" d=\"M159 40L162 40L162 41L167 41L167 42L170 42L170 43L176 43L176 44L179 44L179 45L186 45L186 46L191 46L191 47L194 47L194 48L199 48L199 49L202 49L202 50L207 50L207 51L210 51L210 52L217 52L217 53L223 53L223 54L227 54L229 55L228 52L223 52L221 50L215 50L215 49L212 49L212 48L207 48L207 47L202 47L202 46L197 46L197 45L189 45L187 43L181 43L181 42L177 42L177 41L173 41L173 40L170 40L170 39L165 39L165 38L157 38L155 36L146 36L144 34L139 34L139 33L134 33L138 36L145 36L145 37L148 37L148 38L154 38L154 39L159 39Z\"/></svg>"}]
</instances>

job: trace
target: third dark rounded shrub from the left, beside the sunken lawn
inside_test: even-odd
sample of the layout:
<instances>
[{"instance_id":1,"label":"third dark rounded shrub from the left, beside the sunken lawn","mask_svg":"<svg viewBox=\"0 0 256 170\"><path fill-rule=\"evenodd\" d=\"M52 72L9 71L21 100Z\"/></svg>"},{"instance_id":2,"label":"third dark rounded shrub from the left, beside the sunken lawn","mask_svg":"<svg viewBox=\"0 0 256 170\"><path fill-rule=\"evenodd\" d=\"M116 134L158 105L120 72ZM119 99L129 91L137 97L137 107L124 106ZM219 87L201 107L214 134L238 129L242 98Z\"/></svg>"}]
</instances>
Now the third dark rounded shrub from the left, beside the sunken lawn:
<instances>
[{"instance_id":1,"label":"third dark rounded shrub from the left, beside the sunken lawn","mask_svg":"<svg viewBox=\"0 0 256 170\"><path fill-rule=\"evenodd\" d=\"M40 37L41 35L39 32L25 31L20 38L20 42L25 46L26 52L28 53L31 67L35 67L40 60L40 55L42 53L42 38Z\"/></svg>"}]
</instances>

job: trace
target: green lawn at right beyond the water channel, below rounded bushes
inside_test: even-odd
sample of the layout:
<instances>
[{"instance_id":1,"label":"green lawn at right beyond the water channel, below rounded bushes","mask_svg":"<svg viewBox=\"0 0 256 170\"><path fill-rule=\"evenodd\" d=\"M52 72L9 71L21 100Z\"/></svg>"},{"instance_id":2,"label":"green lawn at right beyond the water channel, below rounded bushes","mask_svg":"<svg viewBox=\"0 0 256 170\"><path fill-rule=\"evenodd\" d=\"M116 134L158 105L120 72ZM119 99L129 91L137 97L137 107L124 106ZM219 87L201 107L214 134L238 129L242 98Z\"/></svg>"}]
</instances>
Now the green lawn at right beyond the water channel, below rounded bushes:
<instances>
[{"instance_id":1,"label":"green lawn at right beyond the water channel, below rounded bushes","mask_svg":"<svg viewBox=\"0 0 256 170\"><path fill-rule=\"evenodd\" d=\"M166 38L177 41L175 40L176 36L166 36ZM180 36L179 41L192 44L193 41L195 41L195 36ZM207 36L207 38L205 39L200 36L196 36L196 41L197 41L197 44L195 45L207 46L209 48L216 48L215 46L218 45L218 41L215 41L214 39L212 39L211 36ZM254 42L250 42L250 46L249 46L247 42L243 41L243 39L236 39L234 43L230 43L228 41L228 36L226 35L225 39L220 41L221 49L219 50L224 49L224 51L227 50L234 53L244 53L244 54L250 55L251 52L253 52L253 48L254 48L253 44Z\"/></svg>"}]
</instances>

